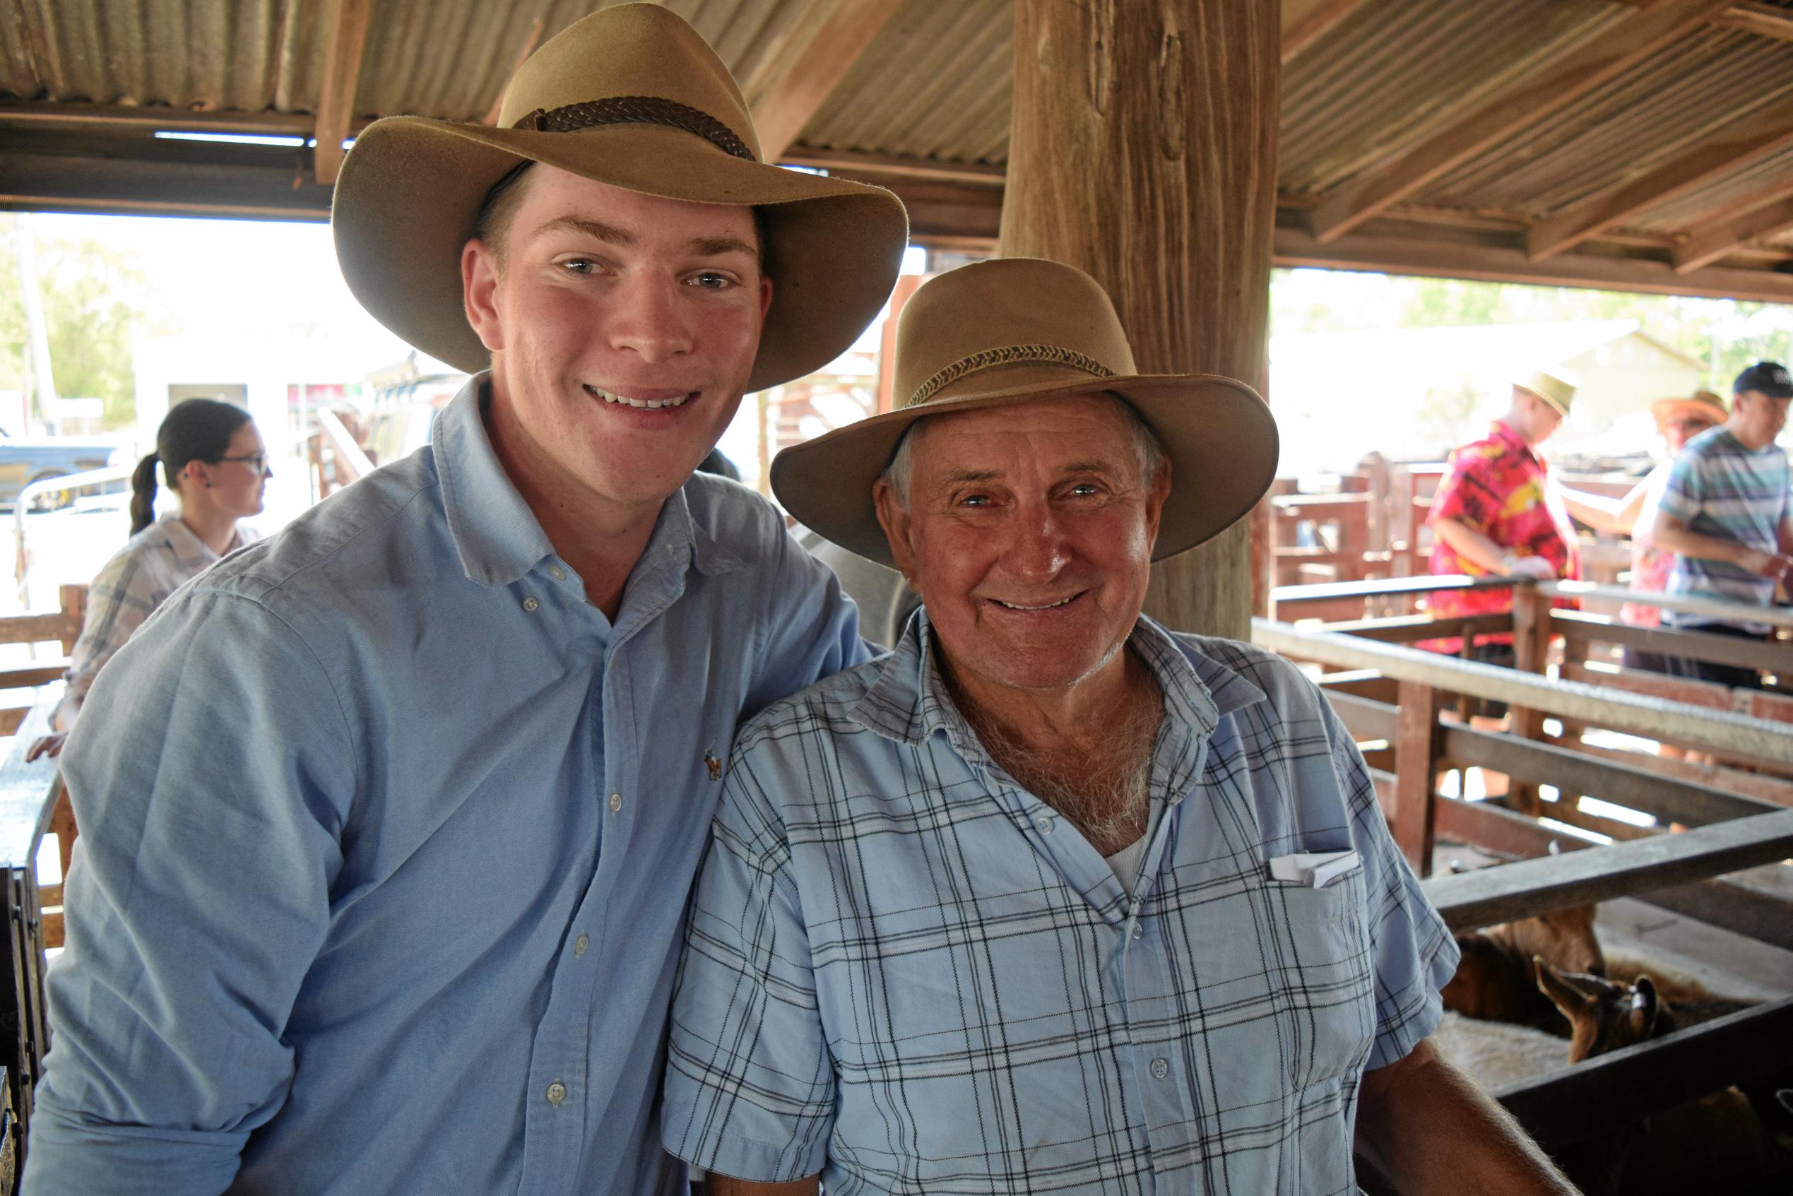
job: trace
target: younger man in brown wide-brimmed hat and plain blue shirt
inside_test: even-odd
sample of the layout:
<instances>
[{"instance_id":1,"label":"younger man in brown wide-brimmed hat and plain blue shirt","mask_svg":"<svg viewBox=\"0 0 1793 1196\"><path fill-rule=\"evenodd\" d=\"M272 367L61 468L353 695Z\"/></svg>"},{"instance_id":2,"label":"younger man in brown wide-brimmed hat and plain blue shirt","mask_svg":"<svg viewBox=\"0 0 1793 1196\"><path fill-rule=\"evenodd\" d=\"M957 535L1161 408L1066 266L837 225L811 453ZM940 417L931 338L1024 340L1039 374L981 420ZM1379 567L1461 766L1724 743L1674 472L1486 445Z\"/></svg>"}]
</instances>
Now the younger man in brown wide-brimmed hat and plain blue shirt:
<instances>
[{"instance_id":1,"label":"younger man in brown wide-brimmed hat and plain blue shirt","mask_svg":"<svg viewBox=\"0 0 1793 1196\"><path fill-rule=\"evenodd\" d=\"M902 206L762 163L710 47L626 4L495 127L373 124L333 222L357 298L477 375L95 685L25 1191L681 1191L653 1097L723 757L862 658L692 468L877 314Z\"/></svg>"}]
</instances>

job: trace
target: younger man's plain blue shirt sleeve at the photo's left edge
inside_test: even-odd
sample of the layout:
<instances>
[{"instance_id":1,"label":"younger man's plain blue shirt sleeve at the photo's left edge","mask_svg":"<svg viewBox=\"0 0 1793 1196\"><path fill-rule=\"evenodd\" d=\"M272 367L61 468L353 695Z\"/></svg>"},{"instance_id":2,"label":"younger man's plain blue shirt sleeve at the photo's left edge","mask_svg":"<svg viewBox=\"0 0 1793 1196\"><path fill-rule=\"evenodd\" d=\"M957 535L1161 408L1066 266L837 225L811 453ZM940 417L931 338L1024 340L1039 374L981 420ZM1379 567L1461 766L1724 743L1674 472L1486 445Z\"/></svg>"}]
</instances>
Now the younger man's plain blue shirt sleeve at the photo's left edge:
<instances>
[{"instance_id":1,"label":"younger man's plain blue shirt sleeve at the photo's left edge","mask_svg":"<svg viewBox=\"0 0 1793 1196\"><path fill-rule=\"evenodd\" d=\"M29 1196L231 1183L287 1096L355 787L330 681L256 602L178 595L118 662L63 757L82 834Z\"/></svg>"}]
</instances>

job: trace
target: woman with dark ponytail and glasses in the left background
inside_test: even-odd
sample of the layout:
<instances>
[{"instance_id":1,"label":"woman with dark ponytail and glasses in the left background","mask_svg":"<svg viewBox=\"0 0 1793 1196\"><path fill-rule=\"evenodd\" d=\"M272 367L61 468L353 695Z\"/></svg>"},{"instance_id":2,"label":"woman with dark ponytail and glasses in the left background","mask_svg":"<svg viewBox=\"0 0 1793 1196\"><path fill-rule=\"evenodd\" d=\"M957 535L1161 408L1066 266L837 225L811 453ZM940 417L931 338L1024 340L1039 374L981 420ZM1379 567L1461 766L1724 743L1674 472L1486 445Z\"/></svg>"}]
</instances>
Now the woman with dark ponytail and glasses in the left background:
<instances>
[{"instance_id":1,"label":"woman with dark ponytail and glasses in the left background","mask_svg":"<svg viewBox=\"0 0 1793 1196\"><path fill-rule=\"evenodd\" d=\"M174 502L156 515L156 466ZM215 398L188 398L169 409L156 452L131 475L131 540L106 561L88 590L86 622L68 662L68 690L56 726L74 726L100 665L174 590L240 549L256 534L237 520L262 509L273 470L249 412ZM56 755L61 735L32 746Z\"/></svg>"}]
</instances>

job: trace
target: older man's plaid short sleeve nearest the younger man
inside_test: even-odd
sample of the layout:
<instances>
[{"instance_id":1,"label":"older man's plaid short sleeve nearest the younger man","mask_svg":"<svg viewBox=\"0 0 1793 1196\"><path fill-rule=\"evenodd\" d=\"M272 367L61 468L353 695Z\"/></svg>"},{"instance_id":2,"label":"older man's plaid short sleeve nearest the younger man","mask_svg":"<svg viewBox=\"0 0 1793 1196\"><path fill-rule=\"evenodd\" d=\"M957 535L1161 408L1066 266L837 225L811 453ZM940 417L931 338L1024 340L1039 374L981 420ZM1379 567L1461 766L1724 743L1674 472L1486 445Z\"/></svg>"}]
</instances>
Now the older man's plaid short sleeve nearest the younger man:
<instances>
[{"instance_id":1,"label":"older man's plaid short sleeve nearest the younger man","mask_svg":"<svg viewBox=\"0 0 1793 1196\"><path fill-rule=\"evenodd\" d=\"M818 1174L836 1114L789 859L784 828L737 753L697 873L660 1126L672 1155L766 1183Z\"/></svg>"}]
</instances>

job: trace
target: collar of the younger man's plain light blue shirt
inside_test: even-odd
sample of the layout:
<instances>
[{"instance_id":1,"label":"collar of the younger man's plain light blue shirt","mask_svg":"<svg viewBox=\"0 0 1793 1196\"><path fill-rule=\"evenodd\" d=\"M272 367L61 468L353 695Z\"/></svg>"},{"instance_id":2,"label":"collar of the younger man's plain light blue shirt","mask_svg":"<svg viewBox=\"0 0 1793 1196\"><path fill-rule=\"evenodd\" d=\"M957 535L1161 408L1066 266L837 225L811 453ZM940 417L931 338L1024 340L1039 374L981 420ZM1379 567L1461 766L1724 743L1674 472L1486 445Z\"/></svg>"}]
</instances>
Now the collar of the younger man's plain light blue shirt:
<instances>
[{"instance_id":1,"label":"collar of the younger man's plain light blue shirt","mask_svg":"<svg viewBox=\"0 0 1793 1196\"><path fill-rule=\"evenodd\" d=\"M524 502L486 434L484 407L489 402L491 375L468 378L461 393L436 416L430 443L436 475L443 488L448 536L468 579L481 585L509 585L554 556L534 511ZM690 486L692 482L687 482ZM631 574L649 576L665 567L683 572L694 565L705 576L742 567L742 559L721 545L708 527L692 516L685 488L660 506L653 536Z\"/></svg>"}]
</instances>

